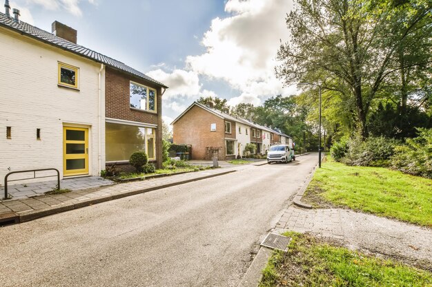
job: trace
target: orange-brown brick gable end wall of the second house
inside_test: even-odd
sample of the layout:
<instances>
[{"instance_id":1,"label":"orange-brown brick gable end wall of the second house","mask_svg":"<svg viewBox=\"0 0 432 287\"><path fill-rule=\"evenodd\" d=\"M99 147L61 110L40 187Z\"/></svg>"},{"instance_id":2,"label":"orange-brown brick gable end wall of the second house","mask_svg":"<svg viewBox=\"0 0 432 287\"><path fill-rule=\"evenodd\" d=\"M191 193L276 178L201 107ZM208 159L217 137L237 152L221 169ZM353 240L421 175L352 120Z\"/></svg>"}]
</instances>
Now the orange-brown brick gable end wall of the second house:
<instances>
[{"instance_id":1,"label":"orange-brown brick gable end wall of the second house","mask_svg":"<svg viewBox=\"0 0 432 287\"><path fill-rule=\"evenodd\" d=\"M216 124L216 131L210 131L212 123ZM219 160L224 160L224 135L224 119L196 105L173 125L173 141L176 144L192 145L193 160L205 160L208 147L220 147Z\"/></svg>"}]
</instances>

